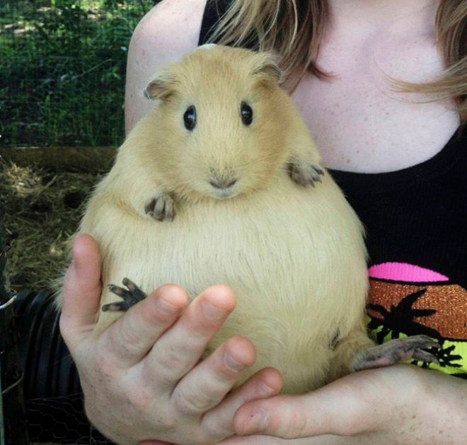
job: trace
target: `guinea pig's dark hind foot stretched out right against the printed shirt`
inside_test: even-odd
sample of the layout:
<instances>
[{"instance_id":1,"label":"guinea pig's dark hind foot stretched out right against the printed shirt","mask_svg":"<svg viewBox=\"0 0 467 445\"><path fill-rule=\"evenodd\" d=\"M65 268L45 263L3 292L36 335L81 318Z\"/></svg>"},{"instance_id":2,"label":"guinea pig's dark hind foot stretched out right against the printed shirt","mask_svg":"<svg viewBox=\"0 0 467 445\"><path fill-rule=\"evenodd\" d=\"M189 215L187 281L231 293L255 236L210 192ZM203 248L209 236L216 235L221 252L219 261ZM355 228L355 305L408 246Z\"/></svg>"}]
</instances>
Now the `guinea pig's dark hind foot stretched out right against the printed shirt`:
<instances>
[{"instance_id":1,"label":"guinea pig's dark hind foot stretched out right against the printed shirt","mask_svg":"<svg viewBox=\"0 0 467 445\"><path fill-rule=\"evenodd\" d=\"M353 370L380 368L414 359L418 362L433 362L439 364L437 357L423 349L440 349L440 345L427 335L413 335L412 337L397 338L374 347L360 349L353 359Z\"/></svg>"}]
</instances>

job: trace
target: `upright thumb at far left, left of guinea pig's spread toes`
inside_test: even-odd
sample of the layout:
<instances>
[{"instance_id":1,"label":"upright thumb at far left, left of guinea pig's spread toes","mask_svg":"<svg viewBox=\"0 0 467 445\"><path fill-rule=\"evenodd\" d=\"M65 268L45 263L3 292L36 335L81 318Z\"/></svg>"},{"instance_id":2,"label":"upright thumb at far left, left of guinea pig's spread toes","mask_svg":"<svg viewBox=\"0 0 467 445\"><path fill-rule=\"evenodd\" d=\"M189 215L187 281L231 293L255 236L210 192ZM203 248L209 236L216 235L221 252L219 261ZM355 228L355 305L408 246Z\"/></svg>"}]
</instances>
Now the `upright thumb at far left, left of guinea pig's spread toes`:
<instances>
[{"instance_id":1,"label":"upright thumb at far left, left of guinea pig's spread toes","mask_svg":"<svg viewBox=\"0 0 467 445\"><path fill-rule=\"evenodd\" d=\"M79 234L74 239L72 260L64 277L60 330L73 354L96 323L100 300L100 252L94 239Z\"/></svg>"}]
</instances>

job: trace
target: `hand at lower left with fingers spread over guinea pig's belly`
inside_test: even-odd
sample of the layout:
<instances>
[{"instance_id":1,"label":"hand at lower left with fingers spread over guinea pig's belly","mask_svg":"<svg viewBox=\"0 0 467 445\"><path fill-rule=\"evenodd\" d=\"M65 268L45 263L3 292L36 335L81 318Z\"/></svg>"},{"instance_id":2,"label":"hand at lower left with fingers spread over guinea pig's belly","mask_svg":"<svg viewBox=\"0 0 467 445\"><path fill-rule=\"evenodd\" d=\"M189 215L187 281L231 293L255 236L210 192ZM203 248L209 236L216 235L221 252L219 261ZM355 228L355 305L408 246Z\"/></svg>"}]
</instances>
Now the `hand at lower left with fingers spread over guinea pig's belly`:
<instances>
[{"instance_id":1,"label":"hand at lower left with fingers spread over guinea pig's belly","mask_svg":"<svg viewBox=\"0 0 467 445\"><path fill-rule=\"evenodd\" d=\"M244 337L200 361L233 311L230 289L211 287L185 308L185 291L165 285L96 338L100 291L98 246L79 235L65 276L60 329L79 370L86 414L118 444L214 443L233 434L241 405L279 392L279 373L263 369L229 393L255 362Z\"/></svg>"}]
</instances>

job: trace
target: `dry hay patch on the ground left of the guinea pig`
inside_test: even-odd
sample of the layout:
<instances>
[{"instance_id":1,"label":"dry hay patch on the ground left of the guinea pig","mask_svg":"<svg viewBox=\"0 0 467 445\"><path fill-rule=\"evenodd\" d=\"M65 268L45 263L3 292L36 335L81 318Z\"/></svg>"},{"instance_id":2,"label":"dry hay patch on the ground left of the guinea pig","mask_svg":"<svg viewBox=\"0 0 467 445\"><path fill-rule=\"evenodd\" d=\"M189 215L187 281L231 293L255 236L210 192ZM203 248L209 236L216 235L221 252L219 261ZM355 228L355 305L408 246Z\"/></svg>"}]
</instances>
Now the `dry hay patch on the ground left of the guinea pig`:
<instances>
[{"instance_id":1,"label":"dry hay patch on the ground left of the guinea pig","mask_svg":"<svg viewBox=\"0 0 467 445\"><path fill-rule=\"evenodd\" d=\"M67 267L67 239L76 231L86 198L99 178L0 162L11 289L49 289Z\"/></svg>"}]
</instances>

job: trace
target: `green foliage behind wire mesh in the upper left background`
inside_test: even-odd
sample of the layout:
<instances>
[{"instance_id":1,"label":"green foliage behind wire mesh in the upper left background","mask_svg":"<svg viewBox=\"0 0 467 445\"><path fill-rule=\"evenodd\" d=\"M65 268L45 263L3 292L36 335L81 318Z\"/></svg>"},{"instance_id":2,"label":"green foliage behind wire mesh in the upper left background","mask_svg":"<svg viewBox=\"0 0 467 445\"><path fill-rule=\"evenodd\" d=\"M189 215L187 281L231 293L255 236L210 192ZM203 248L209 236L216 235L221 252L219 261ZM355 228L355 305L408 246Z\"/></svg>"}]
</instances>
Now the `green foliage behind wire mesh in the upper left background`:
<instances>
[{"instance_id":1,"label":"green foliage behind wire mesh in the upper left background","mask_svg":"<svg viewBox=\"0 0 467 445\"><path fill-rule=\"evenodd\" d=\"M1 146L118 146L129 39L158 0L0 0Z\"/></svg>"}]
</instances>

